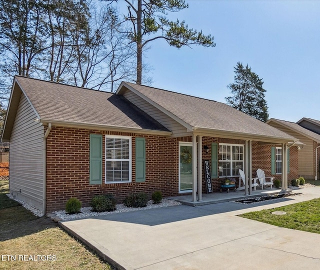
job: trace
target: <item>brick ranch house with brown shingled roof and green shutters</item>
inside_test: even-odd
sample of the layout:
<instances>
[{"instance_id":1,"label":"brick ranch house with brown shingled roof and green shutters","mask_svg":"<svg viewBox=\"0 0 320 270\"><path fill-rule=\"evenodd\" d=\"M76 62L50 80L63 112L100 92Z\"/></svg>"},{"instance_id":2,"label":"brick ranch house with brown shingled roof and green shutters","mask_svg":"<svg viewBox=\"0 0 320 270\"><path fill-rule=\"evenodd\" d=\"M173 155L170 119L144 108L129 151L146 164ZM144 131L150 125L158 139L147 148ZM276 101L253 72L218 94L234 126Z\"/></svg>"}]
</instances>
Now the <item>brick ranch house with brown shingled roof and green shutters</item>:
<instances>
[{"instance_id":1,"label":"brick ranch house with brown shingled roof and green shutters","mask_svg":"<svg viewBox=\"0 0 320 270\"><path fill-rule=\"evenodd\" d=\"M103 193L201 200L202 160L213 191L239 168L248 179L262 168L282 189L298 175L295 137L221 102L128 82L110 93L15 76L1 139L10 193L44 212Z\"/></svg>"}]
</instances>

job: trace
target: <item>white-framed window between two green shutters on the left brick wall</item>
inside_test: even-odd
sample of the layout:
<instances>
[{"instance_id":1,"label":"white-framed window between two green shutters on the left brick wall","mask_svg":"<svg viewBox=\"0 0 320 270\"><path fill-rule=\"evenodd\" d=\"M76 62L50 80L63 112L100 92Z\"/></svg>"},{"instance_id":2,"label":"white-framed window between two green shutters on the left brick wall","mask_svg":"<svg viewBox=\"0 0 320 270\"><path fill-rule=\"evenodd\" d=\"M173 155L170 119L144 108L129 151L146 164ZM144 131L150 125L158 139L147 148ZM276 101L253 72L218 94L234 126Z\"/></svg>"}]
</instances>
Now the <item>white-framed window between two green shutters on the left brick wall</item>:
<instances>
[{"instance_id":1,"label":"white-framed window between two green shutters on the left brick wall","mask_svg":"<svg viewBox=\"0 0 320 270\"><path fill-rule=\"evenodd\" d=\"M105 135L105 182L131 181L131 137Z\"/></svg>"}]
</instances>

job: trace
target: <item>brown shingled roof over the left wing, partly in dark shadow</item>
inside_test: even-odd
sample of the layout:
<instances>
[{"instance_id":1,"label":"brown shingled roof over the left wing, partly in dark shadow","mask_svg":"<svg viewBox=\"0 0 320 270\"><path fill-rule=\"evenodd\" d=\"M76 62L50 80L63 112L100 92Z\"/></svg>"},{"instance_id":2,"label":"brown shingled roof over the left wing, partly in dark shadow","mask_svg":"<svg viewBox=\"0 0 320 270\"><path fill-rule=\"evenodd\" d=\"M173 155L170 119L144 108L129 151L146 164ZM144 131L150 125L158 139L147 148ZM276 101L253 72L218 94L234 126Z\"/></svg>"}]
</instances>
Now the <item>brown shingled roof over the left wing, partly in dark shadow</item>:
<instances>
[{"instance_id":1,"label":"brown shingled roof over the left wing, partly in dark shadow","mask_svg":"<svg viewBox=\"0 0 320 270\"><path fill-rule=\"evenodd\" d=\"M92 90L24 76L15 76L9 106L16 106L20 94L30 101L43 123L86 124L96 127L122 127L135 131L170 131L130 103L111 92ZM6 121L14 121L14 109ZM9 111L10 112L10 111ZM10 124L7 123L9 126ZM7 127L8 127L7 126ZM10 128L9 128L10 129ZM4 130L4 138L11 130Z\"/></svg>"}]
</instances>

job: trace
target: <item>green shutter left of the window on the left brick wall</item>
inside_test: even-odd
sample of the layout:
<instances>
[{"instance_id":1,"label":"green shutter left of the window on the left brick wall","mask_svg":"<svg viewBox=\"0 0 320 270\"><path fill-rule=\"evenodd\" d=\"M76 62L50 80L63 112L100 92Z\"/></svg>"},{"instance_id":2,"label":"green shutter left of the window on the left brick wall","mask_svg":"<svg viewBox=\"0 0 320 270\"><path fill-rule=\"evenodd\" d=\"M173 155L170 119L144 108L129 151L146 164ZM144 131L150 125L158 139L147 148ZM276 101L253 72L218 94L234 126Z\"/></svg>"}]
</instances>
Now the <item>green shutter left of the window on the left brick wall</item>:
<instances>
[{"instance_id":1,"label":"green shutter left of the window on the left brick wall","mask_svg":"<svg viewBox=\"0 0 320 270\"><path fill-rule=\"evenodd\" d=\"M90 184L102 183L102 135L90 134Z\"/></svg>"}]
</instances>

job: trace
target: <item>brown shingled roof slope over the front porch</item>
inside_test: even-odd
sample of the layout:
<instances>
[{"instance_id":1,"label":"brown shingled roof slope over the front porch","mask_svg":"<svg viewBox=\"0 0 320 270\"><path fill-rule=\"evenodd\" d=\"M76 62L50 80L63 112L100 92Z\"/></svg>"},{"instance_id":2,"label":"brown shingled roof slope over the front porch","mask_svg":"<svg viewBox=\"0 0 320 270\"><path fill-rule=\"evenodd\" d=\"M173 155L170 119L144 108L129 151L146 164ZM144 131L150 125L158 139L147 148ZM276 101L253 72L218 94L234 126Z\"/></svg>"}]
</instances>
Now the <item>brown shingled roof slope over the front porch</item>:
<instances>
[{"instance_id":1,"label":"brown shingled roof slope over the front porch","mask_svg":"<svg viewBox=\"0 0 320 270\"><path fill-rule=\"evenodd\" d=\"M125 82L129 89L187 125L203 130L219 130L246 137L297 140L262 121L221 102ZM120 86L121 87L121 86ZM118 90L117 92L119 92Z\"/></svg>"}]
</instances>

